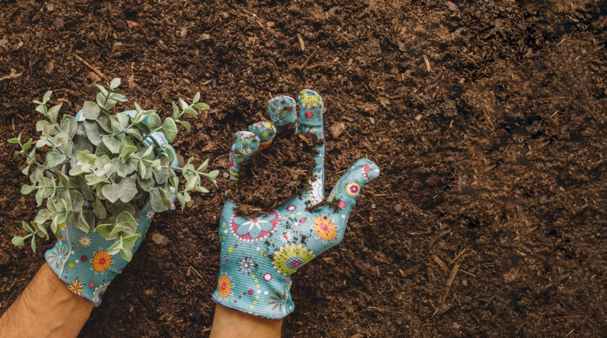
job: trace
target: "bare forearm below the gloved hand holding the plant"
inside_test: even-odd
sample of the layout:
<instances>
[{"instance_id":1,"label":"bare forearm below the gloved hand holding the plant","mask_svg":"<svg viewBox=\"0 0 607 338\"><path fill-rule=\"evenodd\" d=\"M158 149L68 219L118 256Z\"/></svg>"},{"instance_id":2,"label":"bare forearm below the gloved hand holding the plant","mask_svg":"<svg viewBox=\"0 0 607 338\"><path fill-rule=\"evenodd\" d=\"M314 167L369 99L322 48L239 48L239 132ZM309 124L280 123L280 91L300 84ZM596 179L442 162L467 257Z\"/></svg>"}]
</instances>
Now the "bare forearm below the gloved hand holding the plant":
<instances>
[{"instance_id":1,"label":"bare forearm below the gloved hand holding the plant","mask_svg":"<svg viewBox=\"0 0 607 338\"><path fill-rule=\"evenodd\" d=\"M92 310L93 305L70 292L45 263L0 317L0 337L76 337Z\"/></svg>"}]
</instances>

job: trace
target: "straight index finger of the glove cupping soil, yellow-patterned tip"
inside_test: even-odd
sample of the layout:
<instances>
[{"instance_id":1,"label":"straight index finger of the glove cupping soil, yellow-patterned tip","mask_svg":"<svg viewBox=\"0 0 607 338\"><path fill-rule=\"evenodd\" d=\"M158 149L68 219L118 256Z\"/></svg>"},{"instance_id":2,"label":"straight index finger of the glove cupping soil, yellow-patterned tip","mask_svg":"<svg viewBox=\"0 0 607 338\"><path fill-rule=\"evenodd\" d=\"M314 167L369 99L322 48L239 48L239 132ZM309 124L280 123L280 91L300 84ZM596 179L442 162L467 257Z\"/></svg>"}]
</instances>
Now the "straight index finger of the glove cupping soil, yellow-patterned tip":
<instances>
[{"instance_id":1,"label":"straight index finger of the glove cupping soil, yellow-patterned tip","mask_svg":"<svg viewBox=\"0 0 607 338\"><path fill-rule=\"evenodd\" d=\"M325 134L322 125L322 110L324 102L316 91L304 89L299 93L299 123L302 133L316 134L318 139L324 141ZM308 188L308 197L314 203L320 203L325 198L325 144L316 145L318 154L314 156L313 176Z\"/></svg>"}]
</instances>

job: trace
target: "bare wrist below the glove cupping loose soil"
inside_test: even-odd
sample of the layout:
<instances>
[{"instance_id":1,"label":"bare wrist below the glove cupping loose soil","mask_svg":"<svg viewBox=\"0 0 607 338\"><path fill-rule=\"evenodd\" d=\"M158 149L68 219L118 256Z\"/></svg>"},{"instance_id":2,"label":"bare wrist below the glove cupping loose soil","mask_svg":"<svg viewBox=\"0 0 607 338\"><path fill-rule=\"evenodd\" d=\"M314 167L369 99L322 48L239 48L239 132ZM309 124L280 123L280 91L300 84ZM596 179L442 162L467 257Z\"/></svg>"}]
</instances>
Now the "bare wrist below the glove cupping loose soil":
<instances>
[{"instance_id":1,"label":"bare wrist below the glove cupping loose soil","mask_svg":"<svg viewBox=\"0 0 607 338\"><path fill-rule=\"evenodd\" d=\"M215 305L209 338L280 338L282 319L265 319Z\"/></svg>"}]
</instances>

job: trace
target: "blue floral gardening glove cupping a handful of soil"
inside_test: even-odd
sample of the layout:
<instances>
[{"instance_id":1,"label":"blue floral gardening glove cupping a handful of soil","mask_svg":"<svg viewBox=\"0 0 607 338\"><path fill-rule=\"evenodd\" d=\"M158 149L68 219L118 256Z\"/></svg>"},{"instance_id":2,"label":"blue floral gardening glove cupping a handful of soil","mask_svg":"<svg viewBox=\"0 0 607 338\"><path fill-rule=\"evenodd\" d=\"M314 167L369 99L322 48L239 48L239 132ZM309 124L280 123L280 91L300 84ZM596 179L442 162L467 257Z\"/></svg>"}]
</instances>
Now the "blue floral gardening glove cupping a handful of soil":
<instances>
[{"instance_id":1,"label":"blue floral gardening glove cupping a handful of soil","mask_svg":"<svg viewBox=\"0 0 607 338\"><path fill-rule=\"evenodd\" d=\"M324 141L320 95L302 90L299 107L296 132L314 133ZM293 98L271 99L268 110L272 122L258 122L249 127L249 131L236 133L229 154L229 171L234 181L243 162L258 148L270 145L276 130L296 122ZM236 204L226 200L219 224L221 267L213 294L216 303L269 319L285 317L294 308L291 274L341 242L361 187L378 176L379 168L368 159L359 159L337 181L328 203L311 207L323 202L325 197L324 142L316 149L319 153L315 156L313 177L302 197L293 197L254 219L235 214Z\"/></svg>"}]
</instances>

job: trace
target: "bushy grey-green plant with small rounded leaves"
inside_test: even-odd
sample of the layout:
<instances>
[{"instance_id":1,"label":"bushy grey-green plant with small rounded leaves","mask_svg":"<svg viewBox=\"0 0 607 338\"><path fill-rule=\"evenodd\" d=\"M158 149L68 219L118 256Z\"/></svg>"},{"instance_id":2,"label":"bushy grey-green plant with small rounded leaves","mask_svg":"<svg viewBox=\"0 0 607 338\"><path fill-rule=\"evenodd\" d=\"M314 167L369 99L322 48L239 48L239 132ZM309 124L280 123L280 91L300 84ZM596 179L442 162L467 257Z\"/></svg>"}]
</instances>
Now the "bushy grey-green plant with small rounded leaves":
<instances>
[{"instance_id":1,"label":"bushy grey-green plant with small rounded leaves","mask_svg":"<svg viewBox=\"0 0 607 338\"><path fill-rule=\"evenodd\" d=\"M110 109L118 102L127 102L124 95L115 91L120 79L113 79L107 88L95 85L100 92L96 102L84 102L83 121L64 114L58 122L61 105L48 108L46 104L52 91L47 91L42 102L33 101L36 111L46 116L46 120L36 123L41 136L35 147L32 139L22 144L21 134L8 140L21 147L16 154L27 156L27 165L21 171L24 175L35 166L30 175L32 185L23 185L21 193L36 191L38 206L46 199L46 208L38 211L31 225L22 222L29 234L15 236L12 241L21 246L32 237L32 250L36 251L36 235L48 239L49 234L55 234L61 239L58 227L69 220L80 230L115 238L108 253L120 252L129 261L138 237L135 230L139 207L149 200L154 211L165 211L171 208L171 200L176 197L183 210L191 200L191 191L209 192L201 185L202 176L217 185L219 170L205 172L208 159L198 168L192 164L194 157L183 167L175 166L172 147L149 137L162 131L166 141L173 142L178 134L177 124L190 130L189 123L181 121L181 117L197 115L196 110L207 110L209 106L199 103L200 93L196 93L192 104L179 99L181 109L173 102L172 117L163 122L155 110L143 110L137 102L135 111L111 114ZM44 164L36 161L36 149L43 147L50 148ZM181 171L185 178L182 190L175 171Z\"/></svg>"}]
</instances>

